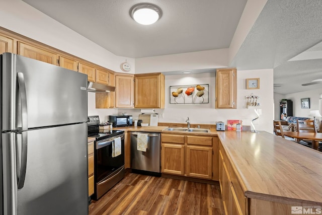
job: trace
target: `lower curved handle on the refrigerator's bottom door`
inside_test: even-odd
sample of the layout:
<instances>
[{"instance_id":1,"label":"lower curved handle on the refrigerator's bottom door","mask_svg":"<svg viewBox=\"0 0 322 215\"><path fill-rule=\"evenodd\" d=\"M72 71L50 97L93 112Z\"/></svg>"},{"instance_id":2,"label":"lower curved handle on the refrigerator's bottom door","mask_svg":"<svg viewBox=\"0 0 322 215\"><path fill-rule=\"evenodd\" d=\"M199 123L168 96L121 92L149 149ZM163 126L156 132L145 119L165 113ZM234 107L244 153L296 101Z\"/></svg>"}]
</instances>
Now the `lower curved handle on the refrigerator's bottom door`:
<instances>
[{"instance_id":1,"label":"lower curved handle on the refrigerator's bottom door","mask_svg":"<svg viewBox=\"0 0 322 215\"><path fill-rule=\"evenodd\" d=\"M28 149L28 141L27 141L27 131L21 133L21 163L19 166L19 161L17 161L17 179L18 179L18 189L24 187L25 178L26 178L26 169L27 169L27 149ZM16 151L18 152L18 150ZM17 155L17 158L19 156Z\"/></svg>"}]
</instances>

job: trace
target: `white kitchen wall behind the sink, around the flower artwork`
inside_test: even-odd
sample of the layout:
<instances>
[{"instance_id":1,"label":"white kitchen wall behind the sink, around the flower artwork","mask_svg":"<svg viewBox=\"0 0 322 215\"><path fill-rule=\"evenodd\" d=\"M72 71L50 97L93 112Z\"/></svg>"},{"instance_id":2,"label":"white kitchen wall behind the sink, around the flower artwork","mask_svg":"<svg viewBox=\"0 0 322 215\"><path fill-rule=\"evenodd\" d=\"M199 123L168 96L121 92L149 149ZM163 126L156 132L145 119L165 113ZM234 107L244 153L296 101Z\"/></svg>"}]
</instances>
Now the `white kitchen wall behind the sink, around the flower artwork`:
<instances>
[{"instance_id":1,"label":"white kitchen wall behind the sink, around the flower artwork","mask_svg":"<svg viewBox=\"0 0 322 215\"><path fill-rule=\"evenodd\" d=\"M260 78L259 90L246 90L246 79ZM209 104L170 104L170 86L209 84ZM217 121L227 123L227 119L241 119L243 125L251 125L257 115L255 107L246 108L245 96L254 94L260 97L262 115L254 121L257 130L273 132L273 69L237 71L237 109L215 109L215 73L194 75L166 76L165 109L156 109L159 122L185 123L189 117L191 123L215 124ZM139 110L119 109L119 113L127 112L137 119Z\"/></svg>"}]
</instances>

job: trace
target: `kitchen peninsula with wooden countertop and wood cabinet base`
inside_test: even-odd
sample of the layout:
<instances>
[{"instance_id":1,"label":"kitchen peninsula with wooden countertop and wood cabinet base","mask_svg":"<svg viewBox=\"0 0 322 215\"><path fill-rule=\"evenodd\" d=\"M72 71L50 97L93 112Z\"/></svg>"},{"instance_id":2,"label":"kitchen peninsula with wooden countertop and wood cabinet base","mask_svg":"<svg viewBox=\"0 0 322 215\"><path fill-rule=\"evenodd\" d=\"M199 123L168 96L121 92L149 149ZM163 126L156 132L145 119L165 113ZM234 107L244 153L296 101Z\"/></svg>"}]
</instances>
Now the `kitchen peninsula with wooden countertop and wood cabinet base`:
<instances>
[{"instance_id":1,"label":"kitchen peninsula with wooden countertop and wood cabinet base","mask_svg":"<svg viewBox=\"0 0 322 215\"><path fill-rule=\"evenodd\" d=\"M265 131L218 132L228 214L291 214L322 206L322 153ZM235 211L236 213L234 213Z\"/></svg>"}]
</instances>

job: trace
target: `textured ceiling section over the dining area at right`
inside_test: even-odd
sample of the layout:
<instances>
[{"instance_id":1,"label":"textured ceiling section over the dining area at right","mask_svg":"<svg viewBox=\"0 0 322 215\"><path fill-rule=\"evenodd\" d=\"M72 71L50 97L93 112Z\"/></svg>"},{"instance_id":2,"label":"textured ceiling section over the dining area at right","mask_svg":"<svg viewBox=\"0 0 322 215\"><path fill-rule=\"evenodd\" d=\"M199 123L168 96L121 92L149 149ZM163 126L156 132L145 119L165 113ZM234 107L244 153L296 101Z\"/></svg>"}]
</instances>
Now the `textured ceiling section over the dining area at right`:
<instances>
[{"instance_id":1,"label":"textured ceiling section over the dining area at right","mask_svg":"<svg viewBox=\"0 0 322 215\"><path fill-rule=\"evenodd\" d=\"M232 65L239 69L274 68L274 85L280 86L274 88L277 93L322 88L321 84L301 86L322 78L322 59L288 61L306 50L322 50L321 11L322 1L269 0Z\"/></svg>"}]
</instances>

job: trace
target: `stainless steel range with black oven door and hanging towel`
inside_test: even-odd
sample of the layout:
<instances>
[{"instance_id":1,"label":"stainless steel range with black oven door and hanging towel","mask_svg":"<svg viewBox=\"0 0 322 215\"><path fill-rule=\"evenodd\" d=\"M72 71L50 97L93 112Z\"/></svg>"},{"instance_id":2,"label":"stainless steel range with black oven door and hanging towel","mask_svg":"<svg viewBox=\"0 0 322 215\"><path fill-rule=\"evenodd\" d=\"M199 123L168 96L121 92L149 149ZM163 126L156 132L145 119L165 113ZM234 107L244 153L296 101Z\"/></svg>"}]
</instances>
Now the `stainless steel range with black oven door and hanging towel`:
<instances>
[{"instance_id":1,"label":"stainless steel range with black oven door and hanging towel","mask_svg":"<svg viewBox=\"0 0 322 215\"><path fill-rule=\"evenodd\" d=\"M124 131L99 129L99 125L99 116L88 117L88 136L95 137L94 199L99 199L125 175ZM115 154L117 142L121 143L121 150Z\"/></svg>"}]
</instances>

